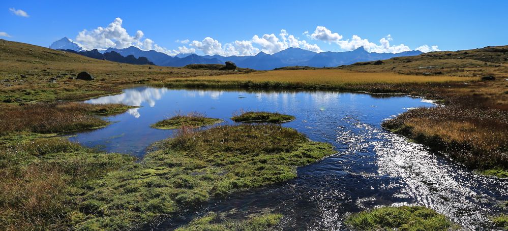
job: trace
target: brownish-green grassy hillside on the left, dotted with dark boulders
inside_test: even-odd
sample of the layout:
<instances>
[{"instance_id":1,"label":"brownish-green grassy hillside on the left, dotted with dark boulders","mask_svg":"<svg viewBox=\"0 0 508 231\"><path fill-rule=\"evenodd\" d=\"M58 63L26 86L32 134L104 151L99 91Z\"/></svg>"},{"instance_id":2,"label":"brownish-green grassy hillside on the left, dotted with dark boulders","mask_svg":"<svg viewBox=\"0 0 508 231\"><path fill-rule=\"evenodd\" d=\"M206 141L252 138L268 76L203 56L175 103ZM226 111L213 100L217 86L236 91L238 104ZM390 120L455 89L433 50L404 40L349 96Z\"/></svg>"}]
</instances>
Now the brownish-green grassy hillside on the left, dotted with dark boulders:
<instances>
[{"instance_id":1,"label":"brownish-green grassy hillside on the left, dotted with dark boulders","mask_svg":"<svg viewBox=\"0 0 508 231\"><path fill-rule=\"evenodd\" d=\"M86 71L94 81L72 80ZM126 86L166 79L243 73L133 65L0 40L0 102L73 100L118 92ZM252 71L252 70L250 70ZM49 79L55 78L56 83Z\"/></svg>"}]
</instances>

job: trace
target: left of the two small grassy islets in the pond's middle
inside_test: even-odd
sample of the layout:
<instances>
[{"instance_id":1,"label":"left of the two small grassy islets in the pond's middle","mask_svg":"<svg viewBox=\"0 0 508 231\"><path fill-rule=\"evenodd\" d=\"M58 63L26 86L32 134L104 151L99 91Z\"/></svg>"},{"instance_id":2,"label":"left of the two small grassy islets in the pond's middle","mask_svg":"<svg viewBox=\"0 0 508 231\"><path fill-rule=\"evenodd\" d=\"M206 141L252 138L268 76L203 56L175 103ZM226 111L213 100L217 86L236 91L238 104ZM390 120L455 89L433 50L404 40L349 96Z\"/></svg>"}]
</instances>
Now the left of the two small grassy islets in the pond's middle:
<instances>
[{"instance_id":1,"label":"left of the two small grassy islets in the pond's middle","mask_svg":"<svg viewBox=\"0 0 508 231\"><path fill-rule=\"evenodd\" d=\"M175 116L152 124L152 127L159 129L176 129L183 126L197 128L206 125L213 125L223 122L221 119L208 118L204 114L191 112L187 115L177 113Z\"/></svg>"}]
</instances>

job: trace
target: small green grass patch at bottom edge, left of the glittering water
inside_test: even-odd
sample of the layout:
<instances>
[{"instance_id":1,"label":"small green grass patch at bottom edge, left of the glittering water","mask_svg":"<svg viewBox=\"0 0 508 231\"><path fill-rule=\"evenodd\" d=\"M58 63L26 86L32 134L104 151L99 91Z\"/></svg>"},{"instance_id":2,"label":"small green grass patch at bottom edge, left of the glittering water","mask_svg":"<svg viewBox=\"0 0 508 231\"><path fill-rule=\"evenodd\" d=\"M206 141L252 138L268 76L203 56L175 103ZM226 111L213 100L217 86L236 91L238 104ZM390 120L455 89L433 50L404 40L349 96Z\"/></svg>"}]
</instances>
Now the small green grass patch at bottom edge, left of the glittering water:
<instances>
[{"instance_id":1,"label":"small green grass patch at bottom edge, left of the glittering water","mask_svg":"<svg viewBox=\"0 0 508 231\"><path fill-rule=\"evenodd\" d=\"M281 214L261 213L250 215L244 219L229 219L227 213L210 212L202 217L189 222L188 225L179 227L176 231L197 231L197 230L252 230L264 231L273 230L281 218Z\"/></svg>"}]
</instances>

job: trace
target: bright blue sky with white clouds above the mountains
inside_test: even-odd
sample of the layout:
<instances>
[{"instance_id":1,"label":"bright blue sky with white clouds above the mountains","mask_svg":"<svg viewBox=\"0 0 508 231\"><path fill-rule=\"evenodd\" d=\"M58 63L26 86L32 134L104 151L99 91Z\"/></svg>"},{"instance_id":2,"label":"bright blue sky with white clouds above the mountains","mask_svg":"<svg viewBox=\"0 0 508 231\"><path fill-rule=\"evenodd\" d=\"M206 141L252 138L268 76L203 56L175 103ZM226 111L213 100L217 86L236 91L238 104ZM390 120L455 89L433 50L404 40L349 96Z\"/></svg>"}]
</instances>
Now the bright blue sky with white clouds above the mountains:
<instances>
[{"instance_id":1,"label":"bright blue sky with white clouds above the mountains","mask_svg":"<svg viewBox=\"0 0 508 231\"><path fill-rule=\"evenodd\" d=\"M3 0L0 36L47 47L65 36L76 40L78 33L86 29L81 43L87 48L100 48L100 44L105 46L104 41L99 41L105 34L93 34L93 30L99 26L107 28L116 18L121 18L122 23L118 26L116 21L116 28L126 30L131 45L155 49L157 44L166 53L182 51L178 47L184 46L187 51L193 49L199 54L241 55L258 51L273 53L290 46L344 51L365 44L370 51L400 52L422 45L429 49L435 45L440 50L459 50L508 44L507 9L508 1L272 0L129 4ZM282 29L286 32L281 32ZM142 31L142 38L136 38L137 30ZM272 34L277 41L270 37ZM293 39L289 41L291 35ZM118 39L108 36L112 35L106 35L106 39L113 43ZM356 40L353 36L357 36ZM383 45L380 41L383 38L389 45ZM151 42L144 43L145 39ZM189 42L176 42L185 40Z\"/></svg>"}]
</instances>

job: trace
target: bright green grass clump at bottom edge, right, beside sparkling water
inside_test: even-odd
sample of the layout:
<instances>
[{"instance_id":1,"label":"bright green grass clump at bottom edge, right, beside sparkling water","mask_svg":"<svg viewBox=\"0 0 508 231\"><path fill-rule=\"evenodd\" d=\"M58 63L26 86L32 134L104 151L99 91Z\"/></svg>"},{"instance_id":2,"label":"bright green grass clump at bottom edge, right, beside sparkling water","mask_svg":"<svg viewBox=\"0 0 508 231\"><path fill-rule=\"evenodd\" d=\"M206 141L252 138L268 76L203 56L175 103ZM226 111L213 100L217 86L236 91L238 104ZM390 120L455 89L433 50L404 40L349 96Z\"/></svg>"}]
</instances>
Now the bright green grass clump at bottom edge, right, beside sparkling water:
<instances>
[{"instance_id":1,"label":"bright green grass clump at bottom edge, right, beside sparkling water","mask_svg":"<svg viewBox=\"0 0 508 231\"><path fill-rule=\"evenodd\" d=\"M382 207L349 216L346 224L358 230L449 230L444 215L420 206Z\"/></svg>"}]
</instances>

